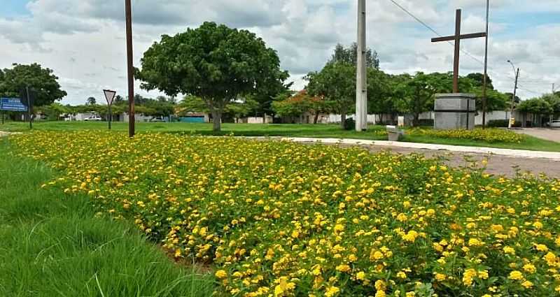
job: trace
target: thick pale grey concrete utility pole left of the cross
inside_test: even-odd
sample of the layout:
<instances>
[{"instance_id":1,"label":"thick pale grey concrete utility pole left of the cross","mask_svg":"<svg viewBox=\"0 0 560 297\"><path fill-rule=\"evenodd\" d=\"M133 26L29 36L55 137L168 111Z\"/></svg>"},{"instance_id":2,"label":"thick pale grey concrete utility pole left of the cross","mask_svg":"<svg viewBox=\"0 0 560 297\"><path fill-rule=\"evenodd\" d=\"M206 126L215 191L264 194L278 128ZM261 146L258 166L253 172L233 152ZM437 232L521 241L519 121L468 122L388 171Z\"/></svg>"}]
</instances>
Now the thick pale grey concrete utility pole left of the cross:
<instances>
[{"instance_id":1,"label":"thick pale grey concrete utility pole left of the cross","mask_svg":"<svg viewBox=\"0 0 560 297\"><path fill-rule=\"evenodd\" d=\"M358 64L356 65L356 131L367 130L365 0L358 0Z\"/></svg>"}]
</instances>

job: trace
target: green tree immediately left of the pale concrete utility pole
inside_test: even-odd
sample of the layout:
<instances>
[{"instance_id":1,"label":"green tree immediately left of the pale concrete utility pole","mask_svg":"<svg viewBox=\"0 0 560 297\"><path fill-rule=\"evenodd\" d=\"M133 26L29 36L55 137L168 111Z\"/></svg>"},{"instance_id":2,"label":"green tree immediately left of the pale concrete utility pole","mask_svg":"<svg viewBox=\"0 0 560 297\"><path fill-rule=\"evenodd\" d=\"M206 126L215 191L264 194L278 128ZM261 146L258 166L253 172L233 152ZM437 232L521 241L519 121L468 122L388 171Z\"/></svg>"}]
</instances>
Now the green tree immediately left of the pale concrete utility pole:
<instances>
[{"instance_id":1,"label":"green tree immediately left of the pale concrete utility pole","mask_svg":"<svg viewBox=\"0 0 560 297\"><path fill-rule=\"evenodd\" d=\"M307 92L330 101L332 110L341 115L344 129L346 115L356 106L356 66L348 63L328 63L321 72L307 74Z\"/></svg>"}]
</instances>

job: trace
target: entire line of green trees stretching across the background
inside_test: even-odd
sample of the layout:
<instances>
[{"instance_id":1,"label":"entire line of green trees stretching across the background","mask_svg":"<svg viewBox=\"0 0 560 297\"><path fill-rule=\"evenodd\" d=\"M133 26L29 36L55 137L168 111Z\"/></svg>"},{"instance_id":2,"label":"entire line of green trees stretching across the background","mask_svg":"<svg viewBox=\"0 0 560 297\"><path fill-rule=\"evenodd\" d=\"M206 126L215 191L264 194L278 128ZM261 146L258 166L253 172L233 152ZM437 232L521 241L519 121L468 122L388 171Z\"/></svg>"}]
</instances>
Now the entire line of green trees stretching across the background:
<instances>
[{"instance_id":1,"label":"entire line of green trees stretching across the background","mask_svg":"<svg viewBox=\"0 0 560 297\"><path fill-rule=\"evenodd\" d=\"M144 52L134 75L141 88L159 90L167 97L144 99L135 96L137 112L145 115L186 115L209 113L214 130L221 129L225 118L253 115L298 117L335 113L344 126L346 115L354 113L356 101L357 46L336 45L321 71L305 76L307 87L295 94L287 82L288 72L281 69L277 52L267 47L262 38L247 30L232 29L223 24L204 22L200 27L175 36L162 36ZM368 112L388 115L410 114L419 124L421 113L433 110L434 95L449 93L451 73L390 74L379 69L379 55L367 50ZM477 94L477 108L482 108L481 73L470 73L459 80L461 92ZM94 111L106 113L104 104L91 97L83 106L62 106L64 92L52 70L38 64L18 65L0 71L0 95L18 96L31 86L35 106L45 113L61 115ZM512 94L498 92L489 81L487 110L505 110ZM185 96L181 102L169 98ZM555 96L555 95L552 95ZM517 103L519 99L516 98ZM117 97L113 114L124 113L127 101ZM556 101L546 98L519 103L524 113L559 113Z\"/></svg>"}]
</instances>

